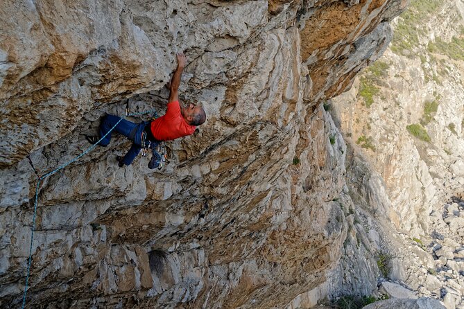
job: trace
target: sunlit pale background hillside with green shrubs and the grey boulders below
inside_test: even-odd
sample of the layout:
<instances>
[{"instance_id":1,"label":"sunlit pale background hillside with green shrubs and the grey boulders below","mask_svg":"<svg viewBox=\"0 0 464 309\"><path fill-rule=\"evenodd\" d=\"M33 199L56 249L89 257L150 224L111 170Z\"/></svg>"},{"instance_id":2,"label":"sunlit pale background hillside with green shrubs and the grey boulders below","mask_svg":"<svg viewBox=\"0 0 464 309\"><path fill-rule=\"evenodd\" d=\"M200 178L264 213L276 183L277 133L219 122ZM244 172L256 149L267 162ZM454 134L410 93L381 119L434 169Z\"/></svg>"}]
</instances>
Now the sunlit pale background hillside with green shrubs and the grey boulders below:
<instances>
[{"instance_id":1,"label":"sunlit pale background hillside with green shrubs and the grey boulders below","mask_svg":"<svg viewBox=\"0 0 464 309\"><path fill-rule=\"evenodd\" d=\"M447 308L464 306L463 26L461 1L411 1L386 53L331 105L384 180L390 277Z\"/></svg>"}]
</instances>

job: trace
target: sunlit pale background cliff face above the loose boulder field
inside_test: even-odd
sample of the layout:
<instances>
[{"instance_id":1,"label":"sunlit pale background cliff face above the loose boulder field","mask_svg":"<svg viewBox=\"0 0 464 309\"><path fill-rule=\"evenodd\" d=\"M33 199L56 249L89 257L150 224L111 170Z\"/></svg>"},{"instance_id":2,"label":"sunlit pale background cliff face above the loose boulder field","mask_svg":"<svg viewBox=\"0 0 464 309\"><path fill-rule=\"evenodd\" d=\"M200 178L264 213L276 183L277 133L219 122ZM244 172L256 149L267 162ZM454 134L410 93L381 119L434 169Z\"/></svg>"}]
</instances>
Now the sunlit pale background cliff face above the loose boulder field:
<instances>
[{"instance_id":1,"label":"sunlit pale background cliff face above the loose boulder field","mask_svg":"<svg viewBox=\"0 0 464 309\"><path fill-rule=\"evenodd\" d=\"M425 5L436 10L431 14L421 8ZM412 14L418 15L413 19L416 24L398 19L399 37L391 48L334 106L342 131L352 144L365 149L385 179L388 197L401 220L397 227L418 236L427 231L427 217L436 204L463 193L463 62L447 55L444 47L427 47L436 43L433 37L461 39L461 24L456 20L461 22L463 17L455 1L413 1L404 18ZM401 37L404 27L427 29L411 30L419 40L417 46L409 46L411 50L404 47L404 41L409 42ZM411 56L413 52L417 55ZM375 90L367 91L367 87ZM369 107L368 94L375 94ZM406 127L413 124L424 127L431 140L411 134Z\"/></svg>"}]
</instances>

